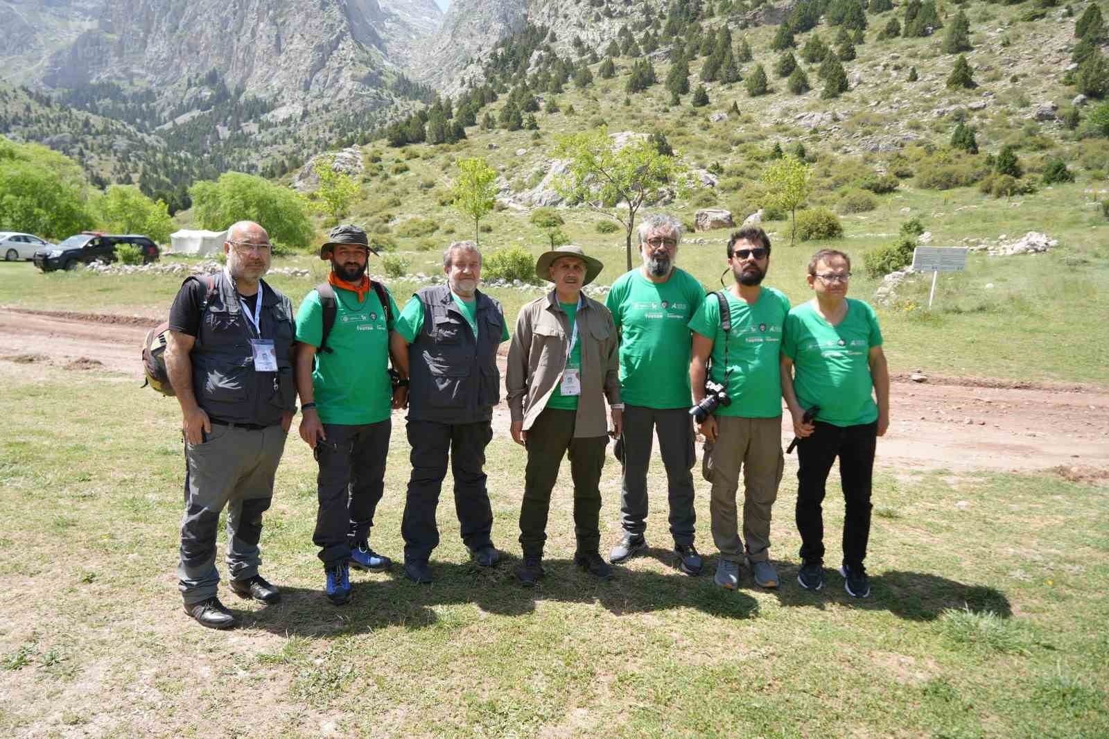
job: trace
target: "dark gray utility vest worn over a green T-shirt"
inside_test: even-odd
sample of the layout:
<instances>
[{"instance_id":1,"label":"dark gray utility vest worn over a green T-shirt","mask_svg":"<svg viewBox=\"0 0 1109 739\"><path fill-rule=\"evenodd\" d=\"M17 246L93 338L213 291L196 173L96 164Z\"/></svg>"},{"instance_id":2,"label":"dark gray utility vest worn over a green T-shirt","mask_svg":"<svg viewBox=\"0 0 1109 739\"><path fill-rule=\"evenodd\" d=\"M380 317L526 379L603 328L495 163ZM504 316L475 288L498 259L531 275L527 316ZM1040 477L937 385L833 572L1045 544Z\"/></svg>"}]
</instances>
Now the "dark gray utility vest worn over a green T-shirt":
<instances>
[{"instance_id":1,"label":"dark gray utility vest worn over a green T-shirt","mask_svg":"<svg viewBox=\"0 0 1109 739\"><path fill-rule=\"evenodd\" d=\"M408 417L445 424L470 424L492 418L500 402L497 346L505 332L500 303L477 295L478 335L450 296L450 287L423 287L424 327L408 351L411 387Z\"/></svg>"}]
</instances>

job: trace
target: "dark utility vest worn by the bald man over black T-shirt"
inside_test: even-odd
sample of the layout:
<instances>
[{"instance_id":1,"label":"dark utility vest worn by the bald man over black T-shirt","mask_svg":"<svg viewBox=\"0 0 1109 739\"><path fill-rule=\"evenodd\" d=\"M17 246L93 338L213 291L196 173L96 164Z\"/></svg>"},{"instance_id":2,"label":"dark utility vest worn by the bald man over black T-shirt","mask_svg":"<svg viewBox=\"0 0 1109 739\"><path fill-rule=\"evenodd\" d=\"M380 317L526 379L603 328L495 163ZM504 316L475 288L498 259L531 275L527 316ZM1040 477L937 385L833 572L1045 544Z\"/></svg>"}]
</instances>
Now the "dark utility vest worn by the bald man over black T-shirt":
<instances>
[{"instance_id":1,"label":"dark utility vest worn by the bald man over black T-shirt","mask_svg":"<svg viewBox=\"0 0 1109 739\"><path fill-rule=\"evenodd\" d=\"M195 277L190 277L195 280ZM201 320L189 358L193 365L193 393L212 421L274 426L282 413L296 407L293 383L293 304L265 282L262 293L262 338L274 342L277 372L255 372L251 340L254 325L243 315L234 285L221 272ZM250 300L254 310L254 300Z\"/></svg>"}]
</instances>

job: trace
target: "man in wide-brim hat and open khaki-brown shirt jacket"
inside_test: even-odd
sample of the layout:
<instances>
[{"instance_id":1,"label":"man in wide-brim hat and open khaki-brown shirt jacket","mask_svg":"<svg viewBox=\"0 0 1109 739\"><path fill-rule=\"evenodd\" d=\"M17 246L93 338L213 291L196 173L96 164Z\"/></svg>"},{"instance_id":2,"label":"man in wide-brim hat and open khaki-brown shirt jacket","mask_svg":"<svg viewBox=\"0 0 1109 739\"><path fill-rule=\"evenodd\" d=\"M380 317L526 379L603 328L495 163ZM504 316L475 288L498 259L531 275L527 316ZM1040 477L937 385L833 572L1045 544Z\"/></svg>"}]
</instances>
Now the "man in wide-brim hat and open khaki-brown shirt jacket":
<instances>
[{"instance_id":1,"label":"man in wide-brim hat and open khaki-brown shirt jacket","mask_svg":"<svg viewBox=\"0 0 1109 739\"><path fill-rule=\"evenodd\" d=\"M582 293L604 265L580 246L546 252L536 274L554 288L522 308L508 351L506 389L512 439L528 449L517 576L535 585L543 576L547 515L562 457L573 477L574 563L611 577L601 558L601 468L610 434L602 395L612 409L611 434L621 432L618 338L612 314Z\"/></svg>"}]
</instances>

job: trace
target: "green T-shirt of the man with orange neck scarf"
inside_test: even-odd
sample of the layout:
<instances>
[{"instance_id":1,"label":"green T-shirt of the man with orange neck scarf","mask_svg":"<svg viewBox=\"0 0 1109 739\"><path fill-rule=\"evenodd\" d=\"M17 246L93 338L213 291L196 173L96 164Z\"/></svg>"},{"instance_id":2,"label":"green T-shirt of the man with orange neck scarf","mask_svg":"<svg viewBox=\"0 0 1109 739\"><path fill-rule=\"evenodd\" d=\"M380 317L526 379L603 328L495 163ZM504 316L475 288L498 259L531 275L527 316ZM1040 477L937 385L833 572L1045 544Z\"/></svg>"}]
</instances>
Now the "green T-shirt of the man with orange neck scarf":
<instances>
[{"instance_id":1,"label":"green T-shirt of the man with orange neck scarf","mask_svg":"<svg viewBox=\"0 0 1109 739\"><path fill-rule=\"evenodd\" d=\"M393 315L397 305L386 290ZM335 325L327 336L330 352L317 352L312 387L319 419L325 424L359 425L385 421L393 412L389 384L389 330L377 293L335 288ZM324 308L313 290L296 312L296 341L319 347Z\"/></svg>"}]
</instances>

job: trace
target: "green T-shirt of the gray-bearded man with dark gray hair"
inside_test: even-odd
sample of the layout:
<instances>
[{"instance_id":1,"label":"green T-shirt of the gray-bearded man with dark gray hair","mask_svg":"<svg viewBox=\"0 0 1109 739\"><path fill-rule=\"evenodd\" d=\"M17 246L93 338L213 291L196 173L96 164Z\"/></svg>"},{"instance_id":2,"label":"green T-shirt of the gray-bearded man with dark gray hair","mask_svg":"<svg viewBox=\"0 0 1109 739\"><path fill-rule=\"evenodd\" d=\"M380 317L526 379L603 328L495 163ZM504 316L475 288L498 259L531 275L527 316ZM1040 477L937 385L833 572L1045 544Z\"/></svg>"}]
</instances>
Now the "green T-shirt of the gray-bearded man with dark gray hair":
<instances>
[{"instance_id":1,"label":"green T-shirt of the gray-bearded man with dark gray hair","mask_svg":"<svg viewBox=\"0 0 1109 739\"><path fill-rule=\"evenodd\" d=\"M620 397L647 408L688 408L690 393L689 322L704 288L675 269L662 283L642 270L621 275L604 301L620 336Z\"/></svg>"}]
</instances>

